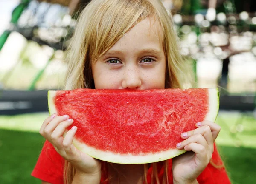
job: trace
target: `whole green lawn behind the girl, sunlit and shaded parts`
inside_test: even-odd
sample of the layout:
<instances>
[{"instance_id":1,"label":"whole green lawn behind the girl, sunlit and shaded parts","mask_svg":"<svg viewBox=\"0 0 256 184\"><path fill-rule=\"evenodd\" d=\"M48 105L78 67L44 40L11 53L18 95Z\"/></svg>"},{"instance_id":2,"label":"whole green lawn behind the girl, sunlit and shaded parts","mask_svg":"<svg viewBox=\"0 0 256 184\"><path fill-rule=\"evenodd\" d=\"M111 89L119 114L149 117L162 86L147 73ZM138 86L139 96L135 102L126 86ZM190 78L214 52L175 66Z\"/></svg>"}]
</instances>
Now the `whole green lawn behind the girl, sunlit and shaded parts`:
<instances>
[{"instance_id":1,"label":"whole green lawn behind the girl, sunlit and shaded parts","mask_svg":"<svg viewBox=\"0 0 256 184\"><path fill-rule=\"evenodd\" d=\"M0 116L1 184L41 183L30 174L44 142L38 130L47 116L48 113ZM222 127L216 142L233 184L254 184L256 119L220 113L216 122Z\"/></svg>"}]
</instances>

